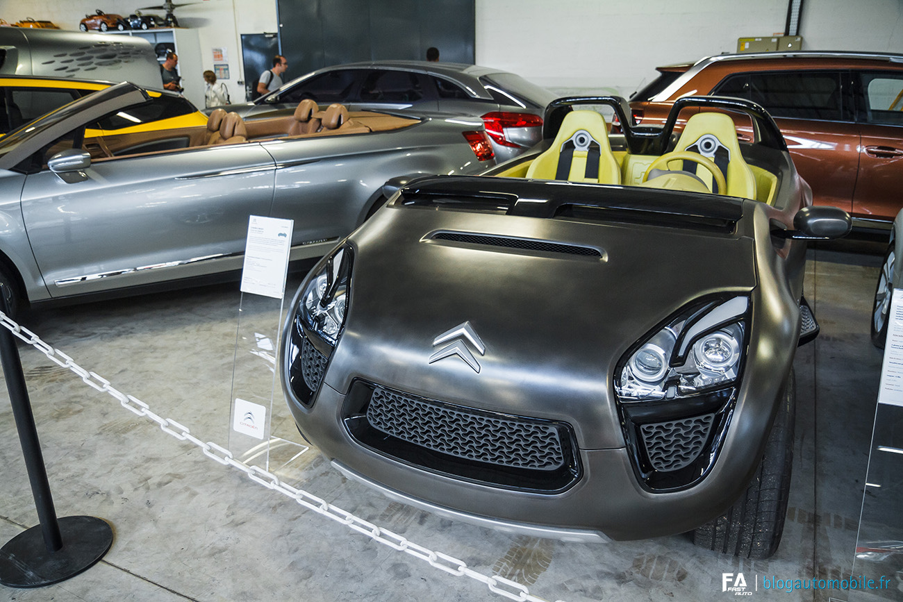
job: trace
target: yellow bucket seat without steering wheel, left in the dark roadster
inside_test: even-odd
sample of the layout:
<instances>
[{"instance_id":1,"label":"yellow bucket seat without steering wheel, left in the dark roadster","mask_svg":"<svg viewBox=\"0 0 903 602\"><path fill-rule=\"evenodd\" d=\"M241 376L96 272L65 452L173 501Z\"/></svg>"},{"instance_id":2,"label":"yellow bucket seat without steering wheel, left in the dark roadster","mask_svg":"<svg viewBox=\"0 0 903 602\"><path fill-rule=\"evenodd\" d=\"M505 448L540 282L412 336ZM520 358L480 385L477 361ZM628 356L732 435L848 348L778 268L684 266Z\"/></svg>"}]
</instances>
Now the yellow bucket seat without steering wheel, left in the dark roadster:
<instances>
[{"instance_id":1,"label":"yellow bucket seat without steering wheel, left in the dark roadster","mask_svg":"<svg viewBox=\"0 0 903 602\"><path fill-rule=\"evenodd\" d=\"M595 111L571 111L545 153L526 171L527 178L619 184L620 166L609 144L605 117Z\"/></svg>"}]
</instances>

